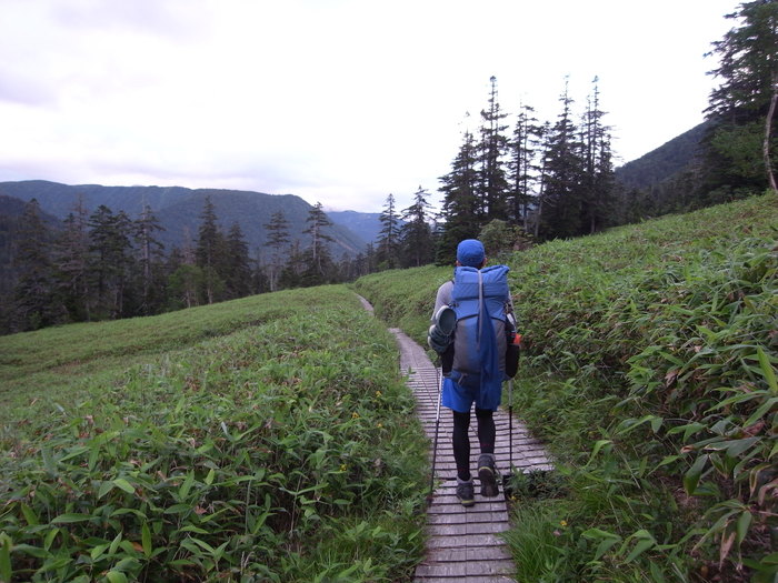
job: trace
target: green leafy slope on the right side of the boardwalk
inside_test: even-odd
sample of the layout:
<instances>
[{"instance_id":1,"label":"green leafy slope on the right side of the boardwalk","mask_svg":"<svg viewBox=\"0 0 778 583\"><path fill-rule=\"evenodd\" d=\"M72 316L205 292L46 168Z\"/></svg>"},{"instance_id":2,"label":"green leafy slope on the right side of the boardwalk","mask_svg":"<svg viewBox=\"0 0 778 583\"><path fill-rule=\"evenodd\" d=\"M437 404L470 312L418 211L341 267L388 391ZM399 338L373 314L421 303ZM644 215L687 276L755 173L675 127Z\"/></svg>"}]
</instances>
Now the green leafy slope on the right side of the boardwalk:
<instances>
[{"instance_id":1,"label":"green leafy slope on the right side of the boardwalk","mask_svg":"<svg viewBox=\"0 0 778 583\"><path fill-rule=\"evenodd\" d=\"M519 581L776 580L777 235L768 194L496 258L525 336L515 412L559 462L515 476ZM356 289L423 342L451 274Z\"/></svg>"}]
</instances>

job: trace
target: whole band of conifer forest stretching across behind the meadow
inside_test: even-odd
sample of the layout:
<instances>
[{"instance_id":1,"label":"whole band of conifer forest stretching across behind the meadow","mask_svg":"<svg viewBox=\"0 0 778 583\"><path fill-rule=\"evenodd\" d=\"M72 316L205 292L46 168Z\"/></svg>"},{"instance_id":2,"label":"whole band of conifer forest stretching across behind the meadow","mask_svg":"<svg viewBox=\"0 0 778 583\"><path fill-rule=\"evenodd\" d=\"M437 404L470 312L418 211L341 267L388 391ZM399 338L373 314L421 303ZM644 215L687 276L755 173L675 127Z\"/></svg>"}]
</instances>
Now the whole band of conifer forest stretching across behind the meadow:
<instances>
[{"instance_id":1,"label":"whole band of conifer forest stretching across behind the meadow","mask_svg":"<svg viewBox=\"0 0 778 583\"><path fill-rule=\"evenodd\" d=\"M238 224L225 230L210 200L190 244L166 249L151 208L137 218L107 205L77 205L61 228L37 201L17 218L0 217L11 249L0 287L0 333L69 322L112 320L210 304L283 289L353 281L387 269L448 264L459 240L481 238L491 255L536 242L569 239L647 218L776 192L772 159L778 96L776 2L742 3L737 21L712 43L707 121L660 177L637 185L614 168L612 134L597 79L577 112L567 87L556 120L525 104L509 124L497 79L477 131L466 131L450 171L440 177L440 211L419 187L398 209L389 194L379 238L356 257L333 258L331 223L321 203L306 219L305 240L276 212L263 258L252 258ZM650 168L644 168L650 174Z\"/></svg>"}]
</instances>

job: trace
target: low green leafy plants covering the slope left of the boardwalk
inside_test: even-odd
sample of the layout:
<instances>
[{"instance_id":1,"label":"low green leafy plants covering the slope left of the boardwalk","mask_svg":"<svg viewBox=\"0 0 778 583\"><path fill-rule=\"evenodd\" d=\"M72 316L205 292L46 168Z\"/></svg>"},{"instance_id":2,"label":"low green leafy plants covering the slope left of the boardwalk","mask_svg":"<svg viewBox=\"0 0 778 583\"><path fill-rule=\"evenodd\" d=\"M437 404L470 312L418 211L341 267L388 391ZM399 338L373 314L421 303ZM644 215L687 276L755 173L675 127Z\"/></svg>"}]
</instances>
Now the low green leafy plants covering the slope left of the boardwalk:
<instances>
[{"instance_id":1,"label":"low green leafy plants covering the slope left of the boardwalk","mask_svg":"<svg viewBox=\"0 0 778 583\"><path fill-rule=\"evenodd\" d=\"M342 287L0 339L2 581L396 581L426 442Z\"/></svg>"}]
</instances>

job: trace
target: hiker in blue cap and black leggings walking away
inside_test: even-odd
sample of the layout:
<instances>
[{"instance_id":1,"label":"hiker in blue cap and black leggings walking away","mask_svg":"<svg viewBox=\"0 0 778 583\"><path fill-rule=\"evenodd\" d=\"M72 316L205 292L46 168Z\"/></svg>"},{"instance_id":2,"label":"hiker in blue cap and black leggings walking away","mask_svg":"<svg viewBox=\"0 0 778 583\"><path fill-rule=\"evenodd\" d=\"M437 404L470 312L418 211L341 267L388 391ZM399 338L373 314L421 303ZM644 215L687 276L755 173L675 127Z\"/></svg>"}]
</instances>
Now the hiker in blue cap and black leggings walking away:
<instances>
[{"instance_id":1,"label":"hiker in blue cap and black leggings walking away","mask_svg":"<svg viewBox=\"0 0 778 583\"><path fill-rule=\"evenodd\" d=\"M472 308L470 308L473 315L480 314L486 309L487 302L489 302L492 306L499 305L499 302L501 302L499 309L502 311L505 306L510 304L510 293L508 290L507 279L508 268L505 265L486 268L486 252L483 250L483 245L477 239L466 239L459 243L457 247L456 264L457 269L455 270L455 280L445 282L438 289L438 294L435 301L435 311L432 312L433 325L430 326L428 342L430 346L441 355L445 376L442 386L442 405L450 409L453 415L453 432L451 441L453 446L453 458L457 463L457 497L463 506L471 506L476 501L472 475L470 474L470 439L468 435L468 430L470 426L470 410L473 403L476 405L478 441L480 444L477 472L481 484L481 495L491 497L497 496L499 493L497 486L497 470L495 468L496 430L492 414L500 404L502 380L505 379L505 358L501 358L499 354L500 350L502 351L502 354L505 354L505 333L501 332L500 334L491 334L491 319L486 319L489 324L488 332L495 340L495 344L491 346L491 349L488 349L490 353L487 356L486 364L479 364L479 366L482 365L483 368L480 370L480 374L476 375L478 376L478 380L473 382L466 375L459 375L457 373L456 361L465 358L463 354L457 355L457 351L462 351L465 348L467 348L469 351L475 352L475 349L471 345L463 345L462 342L458 340L457 333L453 335L448 335L441 332L441 326L438 325L438 315L446 312L446 306L453 306L455 312L457 312L457 316L462 318L463 314L457 311L458 304L462 305L466 303L465 301L458 302L458 298L461 296L462 293L462 284L457 283L457 285L460 285L460 290L457 291L455 290L455 281L462 281L463 277L469 277L471 280L475 278L475 281L477 282L475 284L475 300L470 302L477 306L475 312L472 311ZM460 268L473 269L467 270ZM460 278L460 274L462 278ZM497 282L497 285L490 284L489 292L492 293L492 296L485 300L485 287L482 282L488 281L490 275L492 280L499 279L499 281ZM469 285L470 289L473 289L472 283ZM472 295L472 292L470 292L470 294ZM480 303L481 301L482 304ZM441 309L443 309L443 312L441 312ZM462 324L457 323L456 325L461 326ZM480 326L481 324L472 325ZM456 328L456 330L460 330L460 328ZM486 332L486 329L481 329L481 331ZM459 332L459 335L462 335L462 332ZM502 339L499 339L499 335L502 335ZM482 350L480 344L482 344L482 342L479 340L478 351ZM455 346L457 350L453 350ZM476 355L472 354L469 356L476 358ZM482 355L477 358L483 360Z\"/></svg>"}]
</instances>

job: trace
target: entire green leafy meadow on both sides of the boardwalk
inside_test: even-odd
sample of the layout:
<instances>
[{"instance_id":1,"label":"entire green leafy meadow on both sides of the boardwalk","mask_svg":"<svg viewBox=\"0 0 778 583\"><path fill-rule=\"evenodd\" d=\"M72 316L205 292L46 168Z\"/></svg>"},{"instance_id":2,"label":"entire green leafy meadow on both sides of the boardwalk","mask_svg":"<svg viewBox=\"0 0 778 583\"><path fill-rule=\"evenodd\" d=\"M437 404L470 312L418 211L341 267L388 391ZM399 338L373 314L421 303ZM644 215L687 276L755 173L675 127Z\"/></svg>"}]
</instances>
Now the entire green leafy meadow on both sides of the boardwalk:
<instances>
[{"instance_id":1,"label":"entire green leafy meadow on both sides of the boardwalk","mask_svg":"<svg viewBox=\"0 0 778 583\"><path fill-rule=\"evenodd\" d=\"M519 581L774 581L778 204L511 268ZM450 268L0 338L0 581L407 581L429 478L387 324Z\"/></svg>"}]
</instances>

